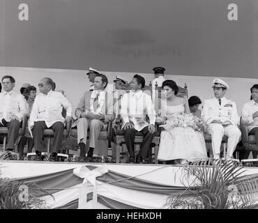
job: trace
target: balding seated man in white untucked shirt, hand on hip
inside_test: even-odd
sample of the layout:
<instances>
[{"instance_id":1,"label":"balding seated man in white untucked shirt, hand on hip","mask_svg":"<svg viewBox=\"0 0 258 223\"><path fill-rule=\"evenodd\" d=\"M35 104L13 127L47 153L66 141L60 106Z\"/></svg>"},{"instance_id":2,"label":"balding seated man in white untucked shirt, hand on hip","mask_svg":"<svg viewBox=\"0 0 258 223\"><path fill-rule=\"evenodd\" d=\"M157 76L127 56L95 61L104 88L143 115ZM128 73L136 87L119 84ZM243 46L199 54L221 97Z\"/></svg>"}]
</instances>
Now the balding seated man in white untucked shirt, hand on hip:
<instances>
[{"instance_id":1,"label":"balding seated man in white untucked shirt, hand on hip","mask_svg":"<svg viewBox=\"0 0 258 223\"><path fill-rule=\"evenodd\" d=\"M36 148L36 160L41 160L44 149L43 132L45 128L54 130L51 161L56 161L63 138L65 123L71 121L73 107L67 98L60 92L53 91L54 82L45 77L38 84L40 94L36 96L30 116L30 125L33 141ZM66 117L62 111L66 110Z\"/></svg>"}]
</instances>

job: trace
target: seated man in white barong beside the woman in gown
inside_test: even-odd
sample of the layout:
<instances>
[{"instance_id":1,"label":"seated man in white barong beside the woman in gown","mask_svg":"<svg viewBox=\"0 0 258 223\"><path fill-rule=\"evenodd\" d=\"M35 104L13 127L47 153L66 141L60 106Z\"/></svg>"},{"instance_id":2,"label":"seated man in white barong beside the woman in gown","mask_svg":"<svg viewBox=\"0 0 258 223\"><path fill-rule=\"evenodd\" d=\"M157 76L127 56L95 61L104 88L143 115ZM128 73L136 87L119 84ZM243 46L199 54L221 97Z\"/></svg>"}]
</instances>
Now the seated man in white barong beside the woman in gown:
<instances>
[{"instance_id":1,"label":"seated man in white barong beside the woman in gown","mask_svg":"<svg viewBox=\"0 0 258 223\"><path fill-rule=\"evenodd\" d=\"M151 142L155 133L155 109L151 96L142 91L144 86L144 77L135 75L131 82L132 91L123 95L121 99L122 129L125 130L130 163L146 163L144 159L151 150ZM146 120L146 115L149 116L149 122ZM137 132L142 132L144 139L135 160L134 141Z\"/></svg>"}]
</instances>

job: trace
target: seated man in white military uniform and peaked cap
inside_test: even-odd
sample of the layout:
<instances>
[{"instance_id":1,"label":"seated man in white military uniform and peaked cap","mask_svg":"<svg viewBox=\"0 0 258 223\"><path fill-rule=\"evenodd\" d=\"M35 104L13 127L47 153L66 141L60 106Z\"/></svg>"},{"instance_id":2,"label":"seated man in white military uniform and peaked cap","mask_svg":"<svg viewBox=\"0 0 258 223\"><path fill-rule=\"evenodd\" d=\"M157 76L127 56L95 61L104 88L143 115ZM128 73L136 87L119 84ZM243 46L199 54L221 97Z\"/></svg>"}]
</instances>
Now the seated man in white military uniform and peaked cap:
<instances>
[{"instance_id":1,"label":"seated man in white military uniform and peaked cap","mask_svg":"<svg viewBox=\"0 0 258 223\"><path fill-rule=\"evenodd\" d=\"M229 86L222 79L213 80L214 96L204 100L202 109L204 122L207 125L206 132L211 134L213 158L220 158L220 144L223 135L228 137L227 160L232 158L236 145L241 139L241 132L238 129L240 118L236 109L236 103L225 98Z\"/></svg>"}]
</instances>

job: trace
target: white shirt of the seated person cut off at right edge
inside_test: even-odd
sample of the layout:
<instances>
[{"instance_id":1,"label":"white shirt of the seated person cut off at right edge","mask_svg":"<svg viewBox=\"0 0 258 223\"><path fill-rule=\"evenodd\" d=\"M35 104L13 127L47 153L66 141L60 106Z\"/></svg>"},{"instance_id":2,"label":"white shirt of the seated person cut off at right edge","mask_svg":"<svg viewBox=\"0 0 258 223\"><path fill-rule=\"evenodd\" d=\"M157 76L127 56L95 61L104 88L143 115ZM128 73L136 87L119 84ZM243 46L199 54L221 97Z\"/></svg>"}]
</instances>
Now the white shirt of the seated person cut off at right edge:
<instances>
[{"instance_id":1,"label":"white shirt of the seated person cut off at right edge","mask_svg":"<svg viewBox=\"0 0 258 223\"><path fill-rule=\"evenodd\" d=\"M242 122L248 125L248 132L252 128L258 127L258 117L252 118L252 114L258 112L258 104L255 100L250 100L250 102L245 103L242 109Z\"/></svg>"}]
</instances>

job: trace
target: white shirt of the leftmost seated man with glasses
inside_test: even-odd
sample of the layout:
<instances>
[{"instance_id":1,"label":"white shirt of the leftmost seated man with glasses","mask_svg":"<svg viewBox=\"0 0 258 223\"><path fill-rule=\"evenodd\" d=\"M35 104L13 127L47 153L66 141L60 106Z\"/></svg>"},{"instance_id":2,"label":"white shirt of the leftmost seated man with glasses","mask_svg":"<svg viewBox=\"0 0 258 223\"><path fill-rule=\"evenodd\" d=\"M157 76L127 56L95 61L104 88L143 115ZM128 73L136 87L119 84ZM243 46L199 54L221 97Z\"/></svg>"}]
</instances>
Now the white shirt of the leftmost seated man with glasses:
<instances>
[{"instance_id":1,"label":"white shirt of the leftmost seated man with glasses","mask_svg":"<svg viewBox=\"0 0 258 223\"><path fill-rule=\"evenodd\" d=\"M10 121L13 115L17 116L19 121L22 121L26 114L26 100L23 95L15 91L0 93L0 122L3 118Z\"/></svg>"}]
</instances>

